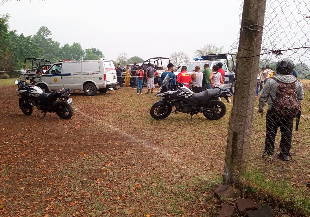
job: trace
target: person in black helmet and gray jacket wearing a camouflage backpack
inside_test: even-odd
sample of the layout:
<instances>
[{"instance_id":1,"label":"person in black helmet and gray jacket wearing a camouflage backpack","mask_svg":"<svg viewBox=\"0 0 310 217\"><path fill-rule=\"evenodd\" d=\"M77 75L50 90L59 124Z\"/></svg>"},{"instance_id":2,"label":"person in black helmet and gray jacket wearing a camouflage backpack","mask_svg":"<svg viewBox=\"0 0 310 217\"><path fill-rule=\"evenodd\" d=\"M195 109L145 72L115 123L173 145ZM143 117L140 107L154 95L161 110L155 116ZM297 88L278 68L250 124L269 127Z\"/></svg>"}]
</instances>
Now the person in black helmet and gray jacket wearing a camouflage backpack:
<instances>
[{"instance_id":1,"label":"person in black helmet and gray jacket wearing a camouflage backpack","mask_svg":"<svg viewBox=\"0 0 310 217\"><path fill-rule=\"evenodd\" d=\"M280 153L277 154L282 161L288 161L292 143L293 120L296 120L298 130L301 115L300 103L303 100L303 86L292 72L294 63L290 59L282 59L276 65L277 74L269 78L263 87L259 98L258 112L263 114L265 103L268 102L266 113L265 149L262 157L273 160L275 137L278 128L281 131Z\"/></svg>"}]
</instances>

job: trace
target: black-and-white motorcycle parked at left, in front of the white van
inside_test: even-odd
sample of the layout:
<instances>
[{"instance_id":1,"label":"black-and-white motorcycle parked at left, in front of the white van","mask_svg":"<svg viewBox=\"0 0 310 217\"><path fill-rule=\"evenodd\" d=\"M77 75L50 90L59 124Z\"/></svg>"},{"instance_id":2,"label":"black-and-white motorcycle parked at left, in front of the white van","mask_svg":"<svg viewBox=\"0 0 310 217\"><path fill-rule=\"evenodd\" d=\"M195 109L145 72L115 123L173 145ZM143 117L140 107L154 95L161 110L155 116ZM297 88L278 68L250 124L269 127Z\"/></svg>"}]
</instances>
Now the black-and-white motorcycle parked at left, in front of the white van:
<instances>
[{"instance_id":1,"label":"black-and-white motorcycle parked at left, in front of the white van","mask_svg":"<svg viewBox=\"0 0 310 217\"><path fill-rule=\"evenodd\" d=\"M15 84L18 85L18 104L25 115L31 115L36 106L42 113L56 113L62 119L70 119L73 116L72 98L69 88L45 93L38 86L31 86L26 82L26 75L21 75ZM44 116L43 115L43 116Z\"/></svg>"}]
</instances>

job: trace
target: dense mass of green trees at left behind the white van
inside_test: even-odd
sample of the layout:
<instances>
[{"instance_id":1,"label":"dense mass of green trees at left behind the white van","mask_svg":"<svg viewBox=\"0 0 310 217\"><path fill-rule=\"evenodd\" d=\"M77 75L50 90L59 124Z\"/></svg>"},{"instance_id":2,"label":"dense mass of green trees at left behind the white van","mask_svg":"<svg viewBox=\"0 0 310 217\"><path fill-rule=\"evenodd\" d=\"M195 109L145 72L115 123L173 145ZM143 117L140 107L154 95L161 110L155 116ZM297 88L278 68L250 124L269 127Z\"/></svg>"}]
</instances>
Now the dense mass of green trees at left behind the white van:
<instances>
[{"instance_id":1,"label":"dense mass of green trees at left behind the white van","mask_svg":"<svg viewBox=\"0 0 310 217\"><path fill-rule=\"evenodd\" d=\"M79 42L60 46L52 39L52 32L46 26L38 29L36 34L18 35L9 29L9 14L0 15L0 71L20 69L25 58L37 57L50 60L100 60L103 52L91 47L83 50Z\"/></svg>"}]
</instances>

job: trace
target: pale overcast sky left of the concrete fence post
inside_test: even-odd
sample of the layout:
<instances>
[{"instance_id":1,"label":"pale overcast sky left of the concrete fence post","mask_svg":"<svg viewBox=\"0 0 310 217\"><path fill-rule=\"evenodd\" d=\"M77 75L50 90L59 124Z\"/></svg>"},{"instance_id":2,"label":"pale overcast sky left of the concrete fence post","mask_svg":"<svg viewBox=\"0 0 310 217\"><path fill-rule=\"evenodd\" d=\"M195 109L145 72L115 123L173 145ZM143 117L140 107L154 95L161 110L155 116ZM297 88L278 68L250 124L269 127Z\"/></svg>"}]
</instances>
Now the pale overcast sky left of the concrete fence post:
<instances>
[{"instance_id":1,"label":"pale overcast sky left of the concrete fence post","mask_svg":"<svg viewBox=\"0 0 310 217\"><path fill-rule=\"evenodd\" d=\"M189 58L207 43L228 52L237 39L239 0L13 0L0 6L10 29L25 36L47 26L60 45L79 42L95 47L105 59L118 53L144 60L184 51Z\"/></svg>"}]
</instances>

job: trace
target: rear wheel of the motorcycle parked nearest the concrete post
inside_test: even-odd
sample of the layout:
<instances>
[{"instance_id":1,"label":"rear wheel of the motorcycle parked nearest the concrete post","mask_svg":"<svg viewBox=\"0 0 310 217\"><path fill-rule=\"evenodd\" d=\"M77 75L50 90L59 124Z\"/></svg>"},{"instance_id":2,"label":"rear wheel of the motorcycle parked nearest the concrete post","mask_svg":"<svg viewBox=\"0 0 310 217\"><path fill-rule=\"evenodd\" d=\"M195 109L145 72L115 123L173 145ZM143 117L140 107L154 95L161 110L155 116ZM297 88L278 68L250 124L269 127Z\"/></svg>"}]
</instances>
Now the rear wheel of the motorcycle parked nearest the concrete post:
<instances>
[{"instance_id":1,"label":"rear wheel of the motorcycle parked nearest the concrete post","mask_svg":"<svg viewBox=\"0 0 310 217\"><path fill-rule=\"evenodd\" d=\"M219 120L226 114L226 106L222 101L211 100L205 107L203 115L209 120Z\"/></svg>"}]
</instances>

